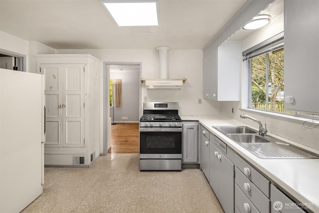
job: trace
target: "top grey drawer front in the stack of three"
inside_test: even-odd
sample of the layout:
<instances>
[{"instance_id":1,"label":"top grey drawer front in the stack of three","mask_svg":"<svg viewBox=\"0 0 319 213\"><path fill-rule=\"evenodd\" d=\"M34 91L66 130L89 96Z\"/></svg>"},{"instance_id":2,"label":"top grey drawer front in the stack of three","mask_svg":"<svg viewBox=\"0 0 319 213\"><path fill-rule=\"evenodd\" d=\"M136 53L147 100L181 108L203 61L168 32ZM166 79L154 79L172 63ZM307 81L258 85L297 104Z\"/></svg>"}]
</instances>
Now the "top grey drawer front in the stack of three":
<instances>
[{"instance_id":1,"label":"top grey drawer front in the stack of three","mask_svg":"<svg viewBox=\"0 0 319 213\"><path fill-rule=\"evenodd\" d=\"M241 157L236 155L236 167L260 189L267 198L270 198L270 182Z\"/></svg>"}]
</instances>

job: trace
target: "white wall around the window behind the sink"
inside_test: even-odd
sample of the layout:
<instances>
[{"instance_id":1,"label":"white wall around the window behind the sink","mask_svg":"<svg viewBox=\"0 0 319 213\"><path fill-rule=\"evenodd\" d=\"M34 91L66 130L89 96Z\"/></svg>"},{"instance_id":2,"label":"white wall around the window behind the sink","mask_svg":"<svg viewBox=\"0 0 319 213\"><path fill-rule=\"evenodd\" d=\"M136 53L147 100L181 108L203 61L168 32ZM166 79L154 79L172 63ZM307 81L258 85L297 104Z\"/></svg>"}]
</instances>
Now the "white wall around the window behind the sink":
<instances>
[{"instance_id":1,"label":"white wall around the window behind the sink","mask_svg":"<svg viewBox=\"0 0 319 213\"><path fill-rule=\"evenodd\" d=\"M284 14L278 16L272 20L272 23L259 30L254 31L252 34L241 40L242 51L255 46L256 44L284 31ZM242 85L242 97L247 97L248 93L248 80L247 71L242 71L242 82L246 82ZM267 124L267 129L270 133L279 135L297 143L303 144L307 147L319 150L319 127L314 129L303 129L303 121L297 121L294 119L283 118L278 116L272 116L269 114L262 114L258 112L247 112L241 110L241 107L245 107L245 102L223 102L221 105L221 113L229 118L239 120L247 123L251 126L258 127L258 124L249 119L240 119L240 114L248 114L257 118L262 123ZM231 113L231 108L234 107L234 114Z\"/></svg>"}]
</instances>

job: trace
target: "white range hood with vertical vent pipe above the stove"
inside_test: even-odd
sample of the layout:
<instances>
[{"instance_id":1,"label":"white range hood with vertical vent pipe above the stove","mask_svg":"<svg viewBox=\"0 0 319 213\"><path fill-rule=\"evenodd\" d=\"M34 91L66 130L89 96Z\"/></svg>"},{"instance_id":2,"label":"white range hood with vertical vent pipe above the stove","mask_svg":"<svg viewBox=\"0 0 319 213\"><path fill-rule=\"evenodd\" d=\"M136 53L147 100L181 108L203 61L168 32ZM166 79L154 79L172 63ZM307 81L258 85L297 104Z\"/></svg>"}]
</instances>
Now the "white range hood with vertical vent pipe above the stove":
<instances>
[{"instance_id":1,"label":"white range hood with vertical vent pipe above the stove","mask_svg":"<svg viewBox=\"0 0 319 213\"><path fill-rule=\"evenodd\" d=\"M156 48L159 50L160 56L160 79L144 79L142 78L142 83L145 81L147 89L181 89L183 83L187 79L169 79L167 71L167 50L169 46L159 46Z\"/></svg>"}]
</instances>

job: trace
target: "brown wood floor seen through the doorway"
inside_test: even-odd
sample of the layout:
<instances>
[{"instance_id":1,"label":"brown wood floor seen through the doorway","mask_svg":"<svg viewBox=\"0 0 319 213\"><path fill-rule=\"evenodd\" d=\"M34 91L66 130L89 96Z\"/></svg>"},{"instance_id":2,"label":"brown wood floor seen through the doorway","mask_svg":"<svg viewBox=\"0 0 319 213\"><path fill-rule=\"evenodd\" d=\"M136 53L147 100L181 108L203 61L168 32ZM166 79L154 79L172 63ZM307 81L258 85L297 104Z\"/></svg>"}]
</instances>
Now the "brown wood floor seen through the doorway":
<instances>
[{"instance_id":1,"label":"brown wood floor seen through the doorway","mask_svg":"<svg viewBox=\"0 0 319 213\"><path fill-rule=\"evenodd\" d=\"M140 153L139 123L112 125L112 145L109 153Z\"/></svg>"}]
</instances>

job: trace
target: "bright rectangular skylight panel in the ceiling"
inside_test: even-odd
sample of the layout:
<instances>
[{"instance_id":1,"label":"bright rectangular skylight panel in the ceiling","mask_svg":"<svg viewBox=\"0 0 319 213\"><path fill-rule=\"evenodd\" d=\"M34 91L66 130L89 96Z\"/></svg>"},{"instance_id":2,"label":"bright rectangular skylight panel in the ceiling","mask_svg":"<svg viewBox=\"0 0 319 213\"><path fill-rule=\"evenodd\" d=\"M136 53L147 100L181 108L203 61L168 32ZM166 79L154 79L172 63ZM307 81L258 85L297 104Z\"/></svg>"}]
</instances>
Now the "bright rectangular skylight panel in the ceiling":
<instances>
[{"instance_id":1,"label":"bright rectangular skylight panel in the ceiling","mask_svg":"<svg viewBox=\"0 0 319 213\"><path fill-rule=\"evenodd\" d=\"M103 4L109 10L119 26L157 26L158 1L147 2L106 2Z\"/></svg>"}]
</instances>

